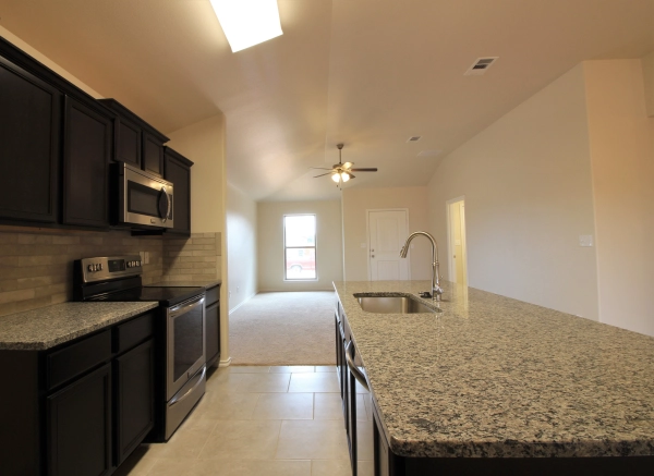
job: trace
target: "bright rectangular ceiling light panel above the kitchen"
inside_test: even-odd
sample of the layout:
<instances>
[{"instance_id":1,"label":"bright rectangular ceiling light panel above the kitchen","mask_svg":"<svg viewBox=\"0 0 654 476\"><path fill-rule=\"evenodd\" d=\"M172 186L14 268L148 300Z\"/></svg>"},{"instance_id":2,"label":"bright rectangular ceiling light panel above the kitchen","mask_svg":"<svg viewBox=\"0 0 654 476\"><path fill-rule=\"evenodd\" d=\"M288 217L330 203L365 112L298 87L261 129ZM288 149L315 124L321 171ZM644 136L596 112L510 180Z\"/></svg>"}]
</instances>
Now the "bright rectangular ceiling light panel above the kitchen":
<instances>
[{"instance_id":1,"label":"bright rectangular ceiling light panel above the kitchen","mask_svg":"<svg viewBox=\"0 0 654 476\"><path fill-rule=\"evenodd\" d=\"M282 35L277 0L210 0L232 52Z\"/></svg>"}]
</instances>

